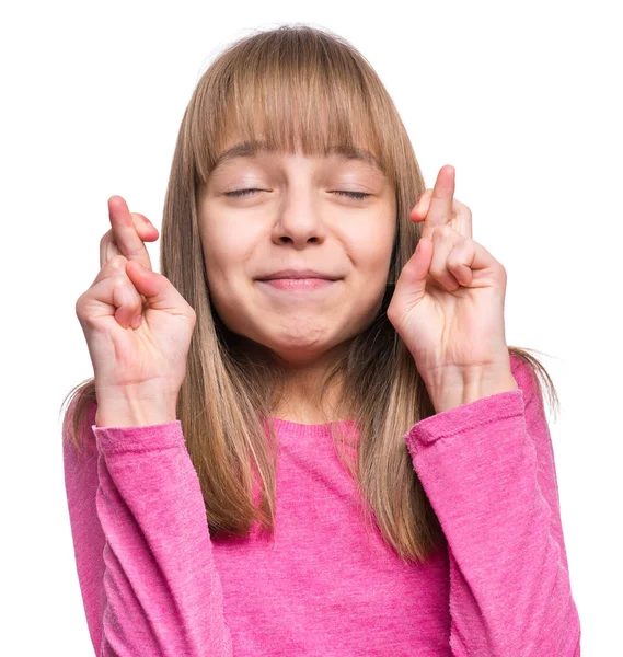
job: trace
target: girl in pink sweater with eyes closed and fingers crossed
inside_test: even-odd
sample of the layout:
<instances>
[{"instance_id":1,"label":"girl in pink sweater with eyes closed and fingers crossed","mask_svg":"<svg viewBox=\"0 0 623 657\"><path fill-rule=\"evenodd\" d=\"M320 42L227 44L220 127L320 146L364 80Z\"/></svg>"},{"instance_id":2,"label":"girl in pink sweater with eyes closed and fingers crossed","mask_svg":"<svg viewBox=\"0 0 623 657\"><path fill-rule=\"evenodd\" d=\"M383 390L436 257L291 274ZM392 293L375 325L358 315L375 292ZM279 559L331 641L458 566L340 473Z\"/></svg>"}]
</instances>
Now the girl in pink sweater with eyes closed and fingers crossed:
<instances>
[{"instance_id":1,"label":"girl in pink sweater with eyes closed and fingers crossed","mask_svg":"<svg viewBox=\"0 0 623 657\"><path fill-rule=\"evenodd\" d=\"M64 418L97 655L579 655L538 373L454 170L280 26L185 112L158 230L108 200Z\"/></svg>"}]
</instances>

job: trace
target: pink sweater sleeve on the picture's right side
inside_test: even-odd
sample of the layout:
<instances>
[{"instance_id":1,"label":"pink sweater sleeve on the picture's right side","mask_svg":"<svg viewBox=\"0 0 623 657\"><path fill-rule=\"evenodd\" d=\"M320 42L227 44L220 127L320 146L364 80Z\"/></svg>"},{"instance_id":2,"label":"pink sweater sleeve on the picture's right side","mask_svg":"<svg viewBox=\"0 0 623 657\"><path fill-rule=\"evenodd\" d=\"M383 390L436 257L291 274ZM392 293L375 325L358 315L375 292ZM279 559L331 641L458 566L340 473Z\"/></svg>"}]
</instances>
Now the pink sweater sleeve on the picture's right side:
<instances>
[{"instance_id":1,"label":"pink sweater sleeve on the picture's right side","mask_svg":"<svg viewBox=\"0 0 623 657\"><path fill-rule=\"evenodd\" d=\"M405 434L448 541L450 648L454 657L579 657L543 400L518 358L512 374L517 390Z\"/></svg>"}]
</instances>

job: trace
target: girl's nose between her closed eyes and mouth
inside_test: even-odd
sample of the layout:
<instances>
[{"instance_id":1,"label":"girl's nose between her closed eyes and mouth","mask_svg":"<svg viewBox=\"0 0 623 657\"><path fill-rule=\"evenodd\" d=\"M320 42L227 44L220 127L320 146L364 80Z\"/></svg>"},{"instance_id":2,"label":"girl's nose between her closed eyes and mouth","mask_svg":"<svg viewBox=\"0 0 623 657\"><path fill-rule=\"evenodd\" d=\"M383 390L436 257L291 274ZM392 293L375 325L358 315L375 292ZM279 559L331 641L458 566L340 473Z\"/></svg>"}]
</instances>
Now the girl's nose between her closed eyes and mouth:
<instances>
[{"instance_id":1,"label":"girl's nose between her closed eyes and mouth","mask_svg":"<svg viewBox=\"0 0 623 657\"><path fill-rule=\"evenodd\" d=\"M308 242L322 244L325 227L320 211L319 198L311 188L292 185L285 194L278 216L273 227L273 241L276 244L292 244L304 249Z\"/></svg>"}]
</instances>

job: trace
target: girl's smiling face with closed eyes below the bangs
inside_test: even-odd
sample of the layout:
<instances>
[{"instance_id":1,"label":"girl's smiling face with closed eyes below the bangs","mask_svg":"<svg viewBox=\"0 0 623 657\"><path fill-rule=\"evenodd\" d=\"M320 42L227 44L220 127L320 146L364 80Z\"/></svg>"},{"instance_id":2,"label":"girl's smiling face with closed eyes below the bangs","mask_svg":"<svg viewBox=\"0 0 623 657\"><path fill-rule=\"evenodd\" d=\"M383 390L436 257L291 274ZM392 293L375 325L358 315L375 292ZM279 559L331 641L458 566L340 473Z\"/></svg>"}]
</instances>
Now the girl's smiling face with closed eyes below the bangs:
<instances>
[{"instance_id":1,"label":"girl's smiling face with closed eyes below the bangs","mask_svg":"<svg viewBox=\"0 0 623 657\"><path fill-rule=\"evenodd\" d=\"M239 145L200 191L198 214L211 301L232 332L302 365L374 319L385 291L396 201L393 185L372 162ZM316 274L263 280L282 269Z\"/></svg>"}]
</instances>

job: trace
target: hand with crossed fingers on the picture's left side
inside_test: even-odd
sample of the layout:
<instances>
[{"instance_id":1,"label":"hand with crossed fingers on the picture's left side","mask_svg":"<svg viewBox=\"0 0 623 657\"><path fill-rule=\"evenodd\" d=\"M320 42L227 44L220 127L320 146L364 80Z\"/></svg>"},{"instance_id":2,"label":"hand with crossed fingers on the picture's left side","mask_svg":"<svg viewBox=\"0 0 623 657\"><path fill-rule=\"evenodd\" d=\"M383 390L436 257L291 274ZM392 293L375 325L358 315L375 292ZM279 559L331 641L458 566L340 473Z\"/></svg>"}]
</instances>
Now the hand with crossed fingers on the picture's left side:
<instances>
[{"instance_id":1,"label":"hand with crossed fingers on the picture's left side","mask_svg":"<svg viewBox=\"0 0 623 657\"><path fill-rule=\"evenodd\" d=\"M196 322L193 308L151 269L145 241L158 230L120 196L108 199L112 229L101 270L76 302L93 364L99 426L176 418L177 394ZM123 423L123 425L122 425Z\"/></svg>"}]
</instances>

